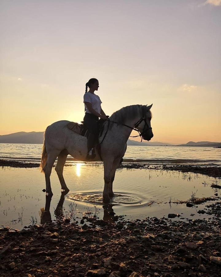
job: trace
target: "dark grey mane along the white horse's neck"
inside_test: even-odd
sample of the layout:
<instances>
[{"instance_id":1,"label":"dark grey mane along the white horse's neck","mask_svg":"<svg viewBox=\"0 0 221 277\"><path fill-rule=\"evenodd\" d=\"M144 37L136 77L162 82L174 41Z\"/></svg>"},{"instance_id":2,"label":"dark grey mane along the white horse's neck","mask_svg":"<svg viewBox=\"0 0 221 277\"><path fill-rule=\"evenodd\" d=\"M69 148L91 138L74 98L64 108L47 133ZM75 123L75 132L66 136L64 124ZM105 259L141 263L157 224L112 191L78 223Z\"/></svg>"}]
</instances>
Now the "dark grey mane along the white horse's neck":
<instances>
[{"instance_id":1,"label":"dark grey mane along the white horse's neck","mask_svg":"<svg viewBox=\"0 0 221 277\"><path fill-rule=\"evenodd\" d=\"M131 105L121 108L120 110L115 111L110 116L110 120L116 121L121 124L125 124L126 119L133 119L134 114L141 113L141 107L144 107L146 109L146 106L144 105ZM150 116L152 117L152 113L149 110Z\"/></svg>"}]
</instances>

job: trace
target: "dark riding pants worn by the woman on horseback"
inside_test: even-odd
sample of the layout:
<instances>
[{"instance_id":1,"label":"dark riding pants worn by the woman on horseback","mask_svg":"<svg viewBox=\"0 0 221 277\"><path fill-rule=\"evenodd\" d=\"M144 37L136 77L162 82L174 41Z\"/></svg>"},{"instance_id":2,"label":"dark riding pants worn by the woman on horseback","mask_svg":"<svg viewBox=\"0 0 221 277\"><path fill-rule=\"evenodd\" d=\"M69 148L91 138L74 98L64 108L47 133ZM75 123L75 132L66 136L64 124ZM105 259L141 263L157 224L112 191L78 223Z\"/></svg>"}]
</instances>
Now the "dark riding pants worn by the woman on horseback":
<instances>
[{"instance_id":1,"label":"dark riding pants worn by the woman on horseback","mask_svg":"<svg viewBox=\"0 0 221 277\"><path fill-rule=\"evenodd\" d=\"M85 113L84 125L87 128L87 151L95 147L98 143L98 120L99 117L94 114Z\"/></svg>"}]
</instances>

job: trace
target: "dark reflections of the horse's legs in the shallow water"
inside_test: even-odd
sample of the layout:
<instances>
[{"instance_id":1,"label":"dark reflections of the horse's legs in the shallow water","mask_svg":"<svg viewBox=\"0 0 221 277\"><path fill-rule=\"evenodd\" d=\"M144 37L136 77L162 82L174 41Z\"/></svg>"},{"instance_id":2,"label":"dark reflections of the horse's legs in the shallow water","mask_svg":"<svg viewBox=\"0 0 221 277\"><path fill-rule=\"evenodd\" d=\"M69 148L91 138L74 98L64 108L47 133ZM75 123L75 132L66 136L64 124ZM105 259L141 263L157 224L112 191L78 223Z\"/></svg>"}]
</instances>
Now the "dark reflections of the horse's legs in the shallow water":
<instances>
[{"instance_id":1,"label":"dark reflections of the horse's legs in the shallow water","mask_svg":"<svg viewBox=\"0 0 221 277\"><path fill-rule=\"evenodd\" d=\"M54 211L56 220L60 220L61 218L64 218L64 212L63 212L63 204L64 204L64 200L65 200L65 195L68 192L62 191L61 192L61 196L60 196L60 200L57 204L57 207ZM51 200L52 200L52 195L46 195L45 196L45 208L41 208L41 210L39 211L39 215L41 218L41 224L45 224L47 222L52 222L52 218L51 218L51 212L50 212L50 206L51 206ZM114 222L114 210L113 210L113 204L110 205L103 205L103 220L104 221L109 221L109 222Z\"/></svg>"}]
</instances>

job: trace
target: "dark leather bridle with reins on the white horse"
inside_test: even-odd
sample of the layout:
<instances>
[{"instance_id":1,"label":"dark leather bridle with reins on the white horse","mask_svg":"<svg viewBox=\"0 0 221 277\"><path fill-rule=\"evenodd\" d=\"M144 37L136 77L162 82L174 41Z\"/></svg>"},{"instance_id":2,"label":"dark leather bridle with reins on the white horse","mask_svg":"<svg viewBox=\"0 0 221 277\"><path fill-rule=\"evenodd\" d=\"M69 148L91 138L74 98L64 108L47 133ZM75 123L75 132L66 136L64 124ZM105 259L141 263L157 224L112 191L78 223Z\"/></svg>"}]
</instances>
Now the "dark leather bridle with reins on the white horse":
<instances>
[{"instance_id":1,"label":"dark leather bridle with reins on the white horse","mask_svg":"<svg viewBox=\"0 0 221 277\"><path fill-rule=\"evenodd\" d=\"M116 121L113 121L113 120L108 119L108 120L107 120L107 121L108 121L107 131L108 131L108 129L109 129L110 122L116 123L117 125L126 126L126 127L130 128L131 130L134 130L134 131L137 131L137 132L138 132L138 135L137 135L137 136L129 136L129 137L130 137L130 138L137 138L137 137L140 136L140 137L141 137L141 142L142 142L142 140L143 140L143 134L144 134L146 131L148 131L148 130L152 130L152 127L149 127L149 125L148 125L147 122L146 122L147 119L146 119L146 113L145 113L144 107L145 107L145 106L142 106L142 117L138 120L138 122L136 122L136 123L134 124L134 127L131 127L131 126L128 126L128 125L126 125L126 124L119 123L119 122L116 122ZM143 129L142 132L140 132L140 131L138 130L137 127L138 127L138 126L141 124L141 122L143 122L143 121L144 121L144 129ZM105 133L105 135L104 135L104 137L103 137L101 143L103 142L104 138L106 137L107 131L106 131L106 133ZM101 144L101 143L99 143L99 144Z\"/></svg>"}]
</instances>

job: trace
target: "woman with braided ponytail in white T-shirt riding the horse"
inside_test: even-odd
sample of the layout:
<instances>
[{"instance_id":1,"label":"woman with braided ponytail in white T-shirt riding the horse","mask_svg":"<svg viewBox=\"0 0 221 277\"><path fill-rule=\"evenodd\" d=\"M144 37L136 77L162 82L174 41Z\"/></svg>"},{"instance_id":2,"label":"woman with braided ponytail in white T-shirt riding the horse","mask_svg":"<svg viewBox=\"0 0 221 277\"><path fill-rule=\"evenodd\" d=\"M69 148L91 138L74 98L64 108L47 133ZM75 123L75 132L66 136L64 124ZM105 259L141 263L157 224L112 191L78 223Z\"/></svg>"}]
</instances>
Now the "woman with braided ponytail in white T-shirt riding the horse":
<instances>
[{"instance_id":1,"label":"woman with braided ponytail in white T-shirt riding the horse","mask_svg":"<svg viewBox=\"0 0 221 277\"><path fill-rule=\"evenodd\" d=\"M89 87L89 90L87 91L87 87ZM94 159L95 153L93 151L93 147L95 147L95 144L98 140L98 120L99 117L102 119L108 119L106 114L101 108L101 100L98 95L96 95L94 92L95 90L98 90L99 88L99 82L95 78L91 78L86 83L86 90L83 97L83 102L85 105L85 116L84 116L84 125L88 129L89 135L87 135L87 156L86 160Z\"/></svg>"}]
</instances>

